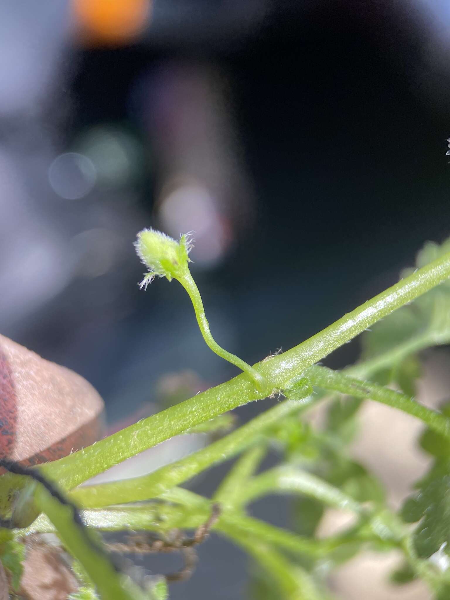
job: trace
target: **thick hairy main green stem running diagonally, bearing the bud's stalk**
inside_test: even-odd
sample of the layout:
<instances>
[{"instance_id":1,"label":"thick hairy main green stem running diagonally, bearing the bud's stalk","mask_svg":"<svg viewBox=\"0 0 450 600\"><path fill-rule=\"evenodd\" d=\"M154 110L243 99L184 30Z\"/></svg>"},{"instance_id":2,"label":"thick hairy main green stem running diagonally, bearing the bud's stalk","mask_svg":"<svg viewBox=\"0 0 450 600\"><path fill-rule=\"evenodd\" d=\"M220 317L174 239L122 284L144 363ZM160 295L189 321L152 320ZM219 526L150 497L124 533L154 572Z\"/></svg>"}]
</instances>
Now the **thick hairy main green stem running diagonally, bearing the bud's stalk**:
<instances>
[{"instance_id":1,"label":"thick hairy main green stem running diagonally, bearing the bud's stalk","mask_svg":"<svg viewBox=\"0 0 450 600\"><path fill-rule=\"evenodd\" d=\"M449 276L450 254L447 253L347 313L299 346L260 363L260 373L266 377L275 390L283 389L288 380L301 375L305 368L320 361L324 356L352 340L377 320L397 310L406 302L412 301L439 285ZM260 394L253 385L244 376L239 375L190 400L130 425L89 448L53 463L47 463L40 468L49 478L58 480L62 488L70 489L194 425L208 421L214 416L252 400L257 400L259 397ZM9 509L8 497L15 487L16 484L8 474L2 476L0 483L1 513Z\"/></svg>"}]
</instances>

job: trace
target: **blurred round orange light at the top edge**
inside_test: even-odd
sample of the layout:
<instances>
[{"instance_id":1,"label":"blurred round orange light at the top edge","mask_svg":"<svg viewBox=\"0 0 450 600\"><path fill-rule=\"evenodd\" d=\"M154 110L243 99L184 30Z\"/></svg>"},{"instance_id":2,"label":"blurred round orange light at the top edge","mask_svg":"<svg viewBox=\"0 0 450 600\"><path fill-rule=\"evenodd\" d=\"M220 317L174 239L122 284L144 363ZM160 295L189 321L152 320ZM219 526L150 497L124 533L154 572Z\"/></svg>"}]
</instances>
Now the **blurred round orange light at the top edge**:
<instances>
[{"instance_id":1,"label":"blurred round orange light at the top edge","mask_svg":"<svg viewBox=\"0 0 450 600\"><path fill-rule=\"evenodd\" d=\"M148 25L151 0L73 0L77 37L95 46L133 41Z\"/></svg>"}]
</instances>

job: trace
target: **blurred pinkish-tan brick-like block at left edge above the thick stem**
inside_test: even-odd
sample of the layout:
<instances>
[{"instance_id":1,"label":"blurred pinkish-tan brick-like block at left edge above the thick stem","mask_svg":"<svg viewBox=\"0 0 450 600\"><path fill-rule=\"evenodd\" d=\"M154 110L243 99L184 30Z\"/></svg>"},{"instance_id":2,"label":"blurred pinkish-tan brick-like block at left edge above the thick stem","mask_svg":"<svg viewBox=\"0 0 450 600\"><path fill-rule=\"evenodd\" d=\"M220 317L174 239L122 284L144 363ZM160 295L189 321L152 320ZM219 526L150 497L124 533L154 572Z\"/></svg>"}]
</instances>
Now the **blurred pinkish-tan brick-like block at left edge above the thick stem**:
<instances>
[{"instance_id":1,"label":"blurred pinkish-tan brick-like block at left edge above the thick stem","mask_svg":"<svg viewBox=\"0 0 450 600\"><path fill-rule=\"evenodd\" d=\"M103 436L103 400L70 369L0 335L0 452L37 464Z\"/></svg>"}]
</instances>

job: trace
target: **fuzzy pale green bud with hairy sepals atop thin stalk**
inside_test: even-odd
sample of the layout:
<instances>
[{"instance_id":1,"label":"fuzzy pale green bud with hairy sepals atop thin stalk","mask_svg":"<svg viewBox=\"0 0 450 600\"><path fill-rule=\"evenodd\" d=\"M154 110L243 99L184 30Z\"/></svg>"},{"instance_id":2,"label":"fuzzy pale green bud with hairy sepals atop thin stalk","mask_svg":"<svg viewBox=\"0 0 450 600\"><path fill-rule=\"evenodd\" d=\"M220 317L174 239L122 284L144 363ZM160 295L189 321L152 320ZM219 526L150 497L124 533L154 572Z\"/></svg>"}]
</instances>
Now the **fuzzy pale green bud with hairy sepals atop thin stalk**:
<instances>
[{"instance_id":1,"label":"fuzzy pale green bud with hairy sepals atop thin stalk","mask_svg":"<svg viewBox=\"0 0 450 600\"><path fill-rule=\"evenodd\" d=\"M137 240L134 242L137 256L148 268L140 282L140 289L147 286L157 277L167 277L169 281L172 278L178 279L184 275L190 262L188 254L191 251L192 238L190 233L180 236L179 242L170 238L165 233L155 229L143 229L137 234Z\"/></svg>"}]
</instances>

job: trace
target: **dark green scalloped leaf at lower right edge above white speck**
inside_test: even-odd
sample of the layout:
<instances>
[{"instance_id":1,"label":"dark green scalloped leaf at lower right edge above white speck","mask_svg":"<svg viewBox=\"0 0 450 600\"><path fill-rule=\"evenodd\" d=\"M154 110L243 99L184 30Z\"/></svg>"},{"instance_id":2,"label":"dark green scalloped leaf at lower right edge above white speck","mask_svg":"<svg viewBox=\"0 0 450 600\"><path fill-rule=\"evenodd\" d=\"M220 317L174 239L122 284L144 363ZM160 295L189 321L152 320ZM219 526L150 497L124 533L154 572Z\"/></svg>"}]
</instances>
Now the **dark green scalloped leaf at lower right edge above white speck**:
<instances>
[{"instance_id":1,"label":"dark green scalloped leaf at lower right edge above white speck","mask_svg":"<svg viewBox=\"0 0 450 600\"><path fill-rule=\"evenodd\" d=\"M413 541L418 556L426 558L444 542L450 545L450 459L437 460L417 487L404 502L401 515L406 523L420 521Z\"/></svg>"}]
</instances>

